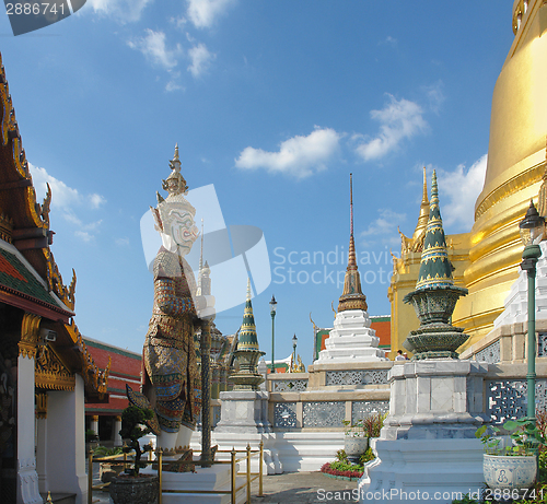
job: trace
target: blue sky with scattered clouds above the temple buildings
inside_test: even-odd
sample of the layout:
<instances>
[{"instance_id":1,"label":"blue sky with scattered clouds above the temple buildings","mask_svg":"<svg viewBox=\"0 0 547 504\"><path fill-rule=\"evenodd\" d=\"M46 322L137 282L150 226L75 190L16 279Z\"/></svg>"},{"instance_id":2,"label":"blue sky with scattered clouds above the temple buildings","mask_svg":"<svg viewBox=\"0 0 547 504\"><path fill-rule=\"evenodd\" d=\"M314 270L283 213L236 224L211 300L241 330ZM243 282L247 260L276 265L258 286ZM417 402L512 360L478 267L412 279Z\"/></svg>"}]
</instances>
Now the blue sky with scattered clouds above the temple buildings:
<instances>
[{"instance_id":1,"label":"blue sky with scattered clouds above the temple buildings","mask_svg":"<svg viewBox=\"0 0 547 504\"><path fill-rule=\"evenodd\" d=\"M189 187L213 184L228 224L264 231L271 284L253 305L268 359L272 294L276 358L296 333L311 363L310 313L331 327L350 172L369 313L388 314L389 249L399 253L397 225L407 235L416 225L422 166L438 169L446 233L473 224L511 9L509 0L88 0L18 37L1 16L23 146L38 200L46 180L53 188L51 250L65 283L77 271L82 333L142 348L152 279L140 219L176 142ZM238 305L217 325L232 333L242 317Z\"/></svg>"}]
</instances>

